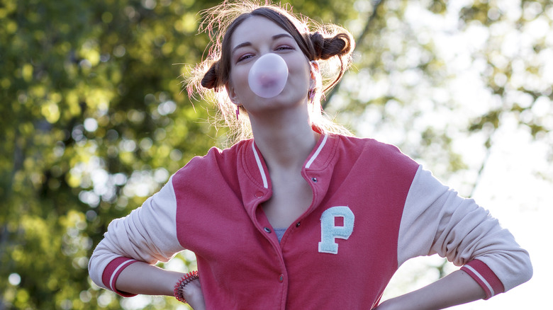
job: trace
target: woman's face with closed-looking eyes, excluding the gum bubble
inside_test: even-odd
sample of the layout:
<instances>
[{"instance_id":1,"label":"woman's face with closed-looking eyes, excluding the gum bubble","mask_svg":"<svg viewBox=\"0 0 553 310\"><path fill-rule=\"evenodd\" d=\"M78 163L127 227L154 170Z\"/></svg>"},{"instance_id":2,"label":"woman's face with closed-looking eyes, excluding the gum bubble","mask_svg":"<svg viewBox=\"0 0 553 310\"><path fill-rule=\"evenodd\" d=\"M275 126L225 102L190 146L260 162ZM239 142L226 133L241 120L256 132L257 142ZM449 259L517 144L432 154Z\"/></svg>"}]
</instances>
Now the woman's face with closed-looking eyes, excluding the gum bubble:
<instances>
[{"instance_id":1,"label":"woman's face with closed-looking eyes, excluding the gum bubble","mask_svg":"<svg viewBox=\"0 0 553 310\"><path fill-rule=\"evenodd\" d=\"M250 113L306 104L311 81L311 67L296 40L277 23L252 16L235 29L230 40L230 79L227 91L230 99L243 105ZM261 98L252 92L247 82L250 68L259 57L278 54L288 66L289 75L284 90L274 98Z\"/></svg>"}]
</instances>

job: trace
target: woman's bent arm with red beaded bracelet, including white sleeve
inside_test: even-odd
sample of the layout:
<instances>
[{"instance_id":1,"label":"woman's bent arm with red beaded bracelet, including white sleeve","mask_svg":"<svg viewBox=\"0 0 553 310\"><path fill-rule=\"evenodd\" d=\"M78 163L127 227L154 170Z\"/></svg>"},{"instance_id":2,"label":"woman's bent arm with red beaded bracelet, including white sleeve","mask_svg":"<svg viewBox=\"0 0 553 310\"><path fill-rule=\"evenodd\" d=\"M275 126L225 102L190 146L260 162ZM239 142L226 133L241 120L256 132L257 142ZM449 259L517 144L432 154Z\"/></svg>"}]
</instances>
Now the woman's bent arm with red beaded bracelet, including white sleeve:
<instances>
[{"instance_id":1,"label":"woman's bent arm with red beaded bracelet, including white sleeve","mask_svg":"<svg viewBox=\"0 0 553 310\"><path fill-rule=\"evenodd\" d=\"M182 274L157 268L155 263L167 262L175 253L184 250L177 240L176 208L171 178L142 207L127 217L113 220L89 260L90 277L96 285L124 297L135 294L172 296L174 285ZM199 281L185 288L196 286L199 287ZM186 300L191 302L196 300L194 295L203 301L201 289L199 293L191 292L190 296L184 292Z\"/></svg>"}]
</instances>

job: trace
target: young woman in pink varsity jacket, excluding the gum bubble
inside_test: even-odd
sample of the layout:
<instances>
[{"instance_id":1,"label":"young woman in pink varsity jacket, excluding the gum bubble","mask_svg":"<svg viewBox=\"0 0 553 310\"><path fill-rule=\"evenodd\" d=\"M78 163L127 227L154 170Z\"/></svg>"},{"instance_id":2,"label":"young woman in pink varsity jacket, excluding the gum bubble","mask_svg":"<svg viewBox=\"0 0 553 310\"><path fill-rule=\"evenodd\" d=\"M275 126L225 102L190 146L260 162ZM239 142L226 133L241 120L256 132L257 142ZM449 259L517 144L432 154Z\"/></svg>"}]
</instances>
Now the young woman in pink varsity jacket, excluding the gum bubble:
<instances>
[{"instance_id":1,"label":"young woman in pink varsity jacket, excluding the gum bubble","mask_svg":"<svg viewBox=\"0 0 553 310\"><path fill-rule=\"evenodd\" d=\"M97 285L174 294L194 309L442 309L531 277L527 252L485 209L396 147L321 115L321 71L337 64L332 86L350 64L346 30L312 32L283 8L242 1L206 15L218 33L189 89L214 91L225 120L238 136L251 127L253 139L192 159L114 220L90 259ZM289 74L281 93L263 98L248 76L269 53ZM198 275L153 266L185 248ZM399 265L435 253L462 268L380 302Z\"/></svg>"}]
</instances>

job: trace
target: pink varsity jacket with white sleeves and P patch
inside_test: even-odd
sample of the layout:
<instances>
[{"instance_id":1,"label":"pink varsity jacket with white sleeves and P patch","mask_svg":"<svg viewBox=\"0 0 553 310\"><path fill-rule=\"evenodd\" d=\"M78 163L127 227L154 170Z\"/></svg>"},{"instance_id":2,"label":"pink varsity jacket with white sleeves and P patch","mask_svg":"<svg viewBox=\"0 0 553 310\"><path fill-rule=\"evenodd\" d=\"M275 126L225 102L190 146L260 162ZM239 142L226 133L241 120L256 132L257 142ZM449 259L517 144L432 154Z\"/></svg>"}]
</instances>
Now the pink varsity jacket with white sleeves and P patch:
<instances>
[{"instance_id":1,"label":"pink varsity jacket with white sleeves and P patch","mask_svg":"<svg viewBox=\"0 0 553 310\"><path fill-rule=\"evenodd\" d=\"M207 309L372 309L416 256L462 266L486 299L532 276L527 252L486 209L396 147L322 134L301 175L313 201L279 243L260 206L272 184L255 142L213 148L109 224L89 260L91 279L133 296L115 287L124 268L186 248Z\"/></svg>"}]
</instances>

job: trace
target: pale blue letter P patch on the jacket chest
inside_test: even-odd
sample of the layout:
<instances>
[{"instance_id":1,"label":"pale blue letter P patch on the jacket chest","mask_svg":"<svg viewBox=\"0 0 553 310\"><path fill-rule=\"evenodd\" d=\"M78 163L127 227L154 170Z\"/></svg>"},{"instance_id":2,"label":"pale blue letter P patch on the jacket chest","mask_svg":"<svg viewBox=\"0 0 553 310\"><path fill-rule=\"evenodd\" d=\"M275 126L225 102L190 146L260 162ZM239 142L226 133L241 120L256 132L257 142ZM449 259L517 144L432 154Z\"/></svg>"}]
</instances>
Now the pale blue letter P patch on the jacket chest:
<instances>
[{"instance_id":1,"label":"pale blue letter P patch on the jacket chest","mask_svg":"<svg viewBox=\"0 0 553 310\"><path fill-rule=\"evenodd\" d=\"M335 218L343 217L344 226L336 226ZM349 207L331 207L320 216L319 253L338 253L336 238L347 240L353 232L355 216Z\"/></svg>"}]
</instances>

